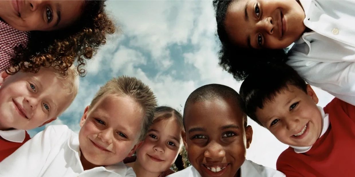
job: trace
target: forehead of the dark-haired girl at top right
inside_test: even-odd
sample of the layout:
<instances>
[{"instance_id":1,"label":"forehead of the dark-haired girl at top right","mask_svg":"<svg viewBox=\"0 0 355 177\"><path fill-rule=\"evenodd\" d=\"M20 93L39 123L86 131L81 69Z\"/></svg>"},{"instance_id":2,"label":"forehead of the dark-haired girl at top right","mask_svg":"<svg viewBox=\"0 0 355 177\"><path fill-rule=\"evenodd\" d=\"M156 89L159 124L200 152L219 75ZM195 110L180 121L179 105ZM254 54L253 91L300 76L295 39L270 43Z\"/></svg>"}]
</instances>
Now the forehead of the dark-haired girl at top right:
<instances>
[{"instance_id":1,"label":"forehead of the dark-haired girl at top right","mask_svg":"<svg viewBox=\"0 0 355 177\"><path fill-rule=\"evenodd\" d=\"M248 13L249 16L250 8L252 6L250 4L255 0L237 0L230 3L228 10L226 12L225 18L225 29L226 33L237 45L242 47L249 47L247 44L247 39L249 33L251 33L250 23L247 23L245 20L245 8L248 5ZM251 18L251 17L249 17Z\"/></svg>"}]
</instances>

